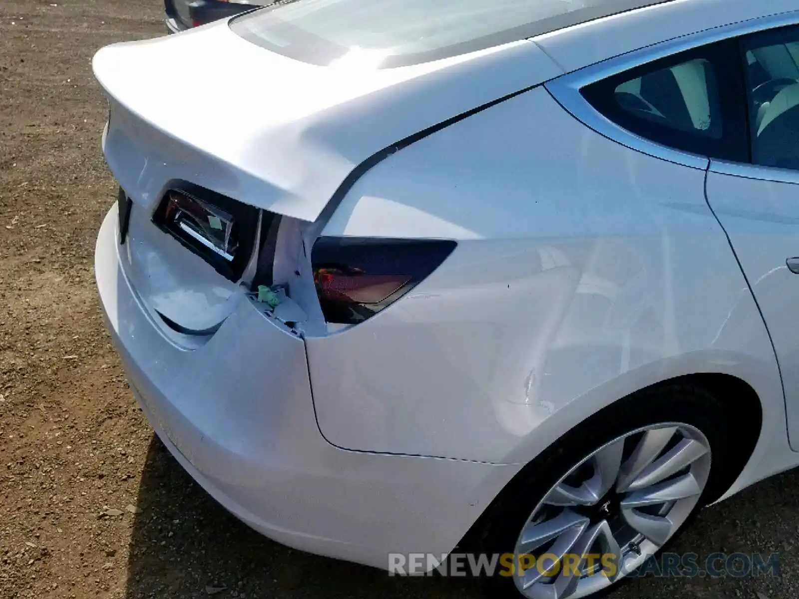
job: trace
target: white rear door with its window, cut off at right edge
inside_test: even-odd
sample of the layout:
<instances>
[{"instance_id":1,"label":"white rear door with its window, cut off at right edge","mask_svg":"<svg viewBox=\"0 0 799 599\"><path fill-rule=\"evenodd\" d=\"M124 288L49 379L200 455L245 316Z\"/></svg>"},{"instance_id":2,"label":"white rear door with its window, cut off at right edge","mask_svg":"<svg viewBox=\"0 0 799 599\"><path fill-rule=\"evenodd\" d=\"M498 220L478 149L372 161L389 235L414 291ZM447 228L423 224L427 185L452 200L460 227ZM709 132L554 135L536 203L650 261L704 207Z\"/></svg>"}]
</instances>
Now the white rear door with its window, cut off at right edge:
<instances>
[{"instance_id":1,"label":"white rear door with its window, cut off at right edge","mask_svg":"<svg viewBox=\"0 0 799 599\"><path fill-rule=\"evenodd\" d=\"M706 193L736 253L779 362L799 449L799 26L741 38L750 164L710 161Z\"/></svg>"}]
</instances>

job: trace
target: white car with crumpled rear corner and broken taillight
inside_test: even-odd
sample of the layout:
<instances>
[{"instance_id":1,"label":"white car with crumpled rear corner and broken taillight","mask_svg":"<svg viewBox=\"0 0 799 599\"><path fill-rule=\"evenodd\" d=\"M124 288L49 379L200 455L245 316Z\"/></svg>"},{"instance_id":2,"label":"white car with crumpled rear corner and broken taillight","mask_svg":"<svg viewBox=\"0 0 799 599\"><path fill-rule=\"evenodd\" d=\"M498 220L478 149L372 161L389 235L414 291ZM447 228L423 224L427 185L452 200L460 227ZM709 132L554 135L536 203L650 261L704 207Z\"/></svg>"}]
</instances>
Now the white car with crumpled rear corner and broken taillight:
<instances>
[{"instance_id":1,"label":"white car with crumpled rear corner and broken taillight","mask_svg":"<svg viewBox=\"0 0 799 599\"><path fill-rule=\"evenodd\" d=\"M797 0L299 0L93 68L113 341L264 535L588 597L799 463Z\"/></svg>"}]
</instances>

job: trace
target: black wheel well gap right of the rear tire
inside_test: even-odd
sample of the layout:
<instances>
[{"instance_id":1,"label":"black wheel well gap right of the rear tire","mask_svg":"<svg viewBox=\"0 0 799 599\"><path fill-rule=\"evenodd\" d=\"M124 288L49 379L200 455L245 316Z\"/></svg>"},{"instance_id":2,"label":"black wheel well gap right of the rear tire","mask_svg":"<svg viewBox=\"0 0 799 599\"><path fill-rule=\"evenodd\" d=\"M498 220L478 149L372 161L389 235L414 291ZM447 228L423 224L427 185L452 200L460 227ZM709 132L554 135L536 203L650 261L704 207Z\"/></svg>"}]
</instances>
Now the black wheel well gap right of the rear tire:
<instances>
[{"instance_id":1,"label":"black wheel well gap right of the rear tire","mask_svg":"<svg viewBox=\"0 0 799 599\"><path fill-rule=\"evenodd\" d=\"M729 462L718 484L710 490L708 503L713 503L733 485L746 466L757 445L763 426L763 407L760 398L749 383L732 375L701 373L670 379L658 385L686 382L703 387L725 407L730 434L737 442L731 444Z\"/></svg>"}]
</instances>

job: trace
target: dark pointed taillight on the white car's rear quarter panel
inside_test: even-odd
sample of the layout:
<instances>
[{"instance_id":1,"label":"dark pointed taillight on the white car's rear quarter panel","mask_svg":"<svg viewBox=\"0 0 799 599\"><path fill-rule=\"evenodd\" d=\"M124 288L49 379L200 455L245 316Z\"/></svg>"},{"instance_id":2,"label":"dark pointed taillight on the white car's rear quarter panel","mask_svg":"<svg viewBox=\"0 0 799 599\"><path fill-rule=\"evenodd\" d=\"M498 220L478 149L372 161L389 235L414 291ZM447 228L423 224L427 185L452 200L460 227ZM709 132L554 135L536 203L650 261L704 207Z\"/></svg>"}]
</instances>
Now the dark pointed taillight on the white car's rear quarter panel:
<instances>
[{"instance_id":1,"label":"dark pointed taillight on the white car's rear quarter panel","mask_svg":"<svg viewBox=\"0 0 799 599\"><path fill-rule=\"evenodd\" d=\"M320 237L311 262L328 323L356 324L399 300L455 249L455 241Z\"/></svg>"}]
</instances>

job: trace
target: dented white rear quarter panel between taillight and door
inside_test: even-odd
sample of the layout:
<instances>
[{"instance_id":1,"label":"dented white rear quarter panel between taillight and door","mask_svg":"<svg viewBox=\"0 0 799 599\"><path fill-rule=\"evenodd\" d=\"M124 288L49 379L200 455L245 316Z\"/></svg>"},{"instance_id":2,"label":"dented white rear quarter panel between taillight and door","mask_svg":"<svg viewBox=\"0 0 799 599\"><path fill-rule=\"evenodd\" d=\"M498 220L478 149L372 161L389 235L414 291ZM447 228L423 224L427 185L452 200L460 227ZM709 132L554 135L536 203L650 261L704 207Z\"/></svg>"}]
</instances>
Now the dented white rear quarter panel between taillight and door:
<instances>
[{"instance_id":1,"label":"dented white rear quarter panel between taillight and door","mask_svg":"<svg viewBox=\"0 0 799 599\"><path fill-rule=\"evenodd\" d=\"M785 438L769 338L704 180L586 128L543 88L392 155L324 234L459 246L380 315L306 340L322 434L523 463L624 395L721 372L757 391L763 436Z\"/></svg>"}]
</instances>

